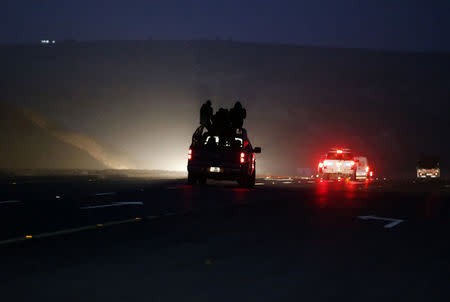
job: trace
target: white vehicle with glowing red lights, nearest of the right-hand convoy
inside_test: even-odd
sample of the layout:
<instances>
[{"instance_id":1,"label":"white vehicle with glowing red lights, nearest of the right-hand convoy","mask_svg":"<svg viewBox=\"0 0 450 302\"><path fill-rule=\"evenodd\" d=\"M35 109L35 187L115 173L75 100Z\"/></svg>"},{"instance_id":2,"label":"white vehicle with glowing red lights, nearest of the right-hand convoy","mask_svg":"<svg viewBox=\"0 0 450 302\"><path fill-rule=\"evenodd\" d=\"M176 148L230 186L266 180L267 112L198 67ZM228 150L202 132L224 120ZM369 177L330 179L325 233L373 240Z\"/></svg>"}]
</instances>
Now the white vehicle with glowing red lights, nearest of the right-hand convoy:
<instances>
[{"instance_id":1,"label":"white vehicle with glowing red lights, nearest of the right-hand convoy","mask_svg":"<svg viewBox=\"0 0 450 302\"><path fill-rule=\"evenodd\" d=\"M319 169L324 179L351 179L356 180L356 162L350 149L331 149Z\"/></svg>"}]
</instances>

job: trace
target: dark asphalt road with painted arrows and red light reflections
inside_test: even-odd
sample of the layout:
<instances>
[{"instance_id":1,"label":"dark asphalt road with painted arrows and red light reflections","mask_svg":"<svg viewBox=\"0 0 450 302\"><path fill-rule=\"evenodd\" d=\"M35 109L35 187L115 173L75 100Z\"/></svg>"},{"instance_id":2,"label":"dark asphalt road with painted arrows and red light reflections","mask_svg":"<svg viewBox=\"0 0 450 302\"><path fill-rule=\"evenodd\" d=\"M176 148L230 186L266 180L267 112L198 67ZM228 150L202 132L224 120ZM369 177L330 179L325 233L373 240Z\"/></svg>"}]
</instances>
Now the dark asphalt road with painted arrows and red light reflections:
<instances>
[{"instance_id":1,"label":"dark asphalt road with painted arrows and red light reflections","mask_svg":"<svg viewBox=\"0 0 450 302\"><path fill-rule=\"evenodd\" d=\"M450 300L444 183L0 189L1 301Z\"/></svg>"}]
</instances>

